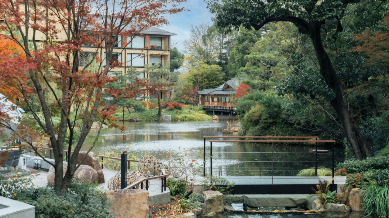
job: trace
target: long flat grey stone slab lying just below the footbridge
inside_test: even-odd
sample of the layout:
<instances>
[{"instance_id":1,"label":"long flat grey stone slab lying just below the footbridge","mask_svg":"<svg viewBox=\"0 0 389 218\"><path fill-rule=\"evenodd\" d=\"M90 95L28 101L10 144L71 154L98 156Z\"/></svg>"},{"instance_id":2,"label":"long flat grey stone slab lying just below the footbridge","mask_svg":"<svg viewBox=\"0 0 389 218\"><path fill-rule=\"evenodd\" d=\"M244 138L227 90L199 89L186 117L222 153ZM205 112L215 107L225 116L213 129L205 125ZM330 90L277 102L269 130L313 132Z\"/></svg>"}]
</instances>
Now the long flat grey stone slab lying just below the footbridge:
<instances>
[{"instance_id":1,"label":"long flat grey stone slab lying just below the footbridge","mask_svg":"<svg viewBox=\"0 0 389 218\"><path fill-rule=\"evenodd\" d=\"M297 207L306 204L308 197L292 195L244 195L244 204L250 207Z\"/></svg>"}]
</instances>

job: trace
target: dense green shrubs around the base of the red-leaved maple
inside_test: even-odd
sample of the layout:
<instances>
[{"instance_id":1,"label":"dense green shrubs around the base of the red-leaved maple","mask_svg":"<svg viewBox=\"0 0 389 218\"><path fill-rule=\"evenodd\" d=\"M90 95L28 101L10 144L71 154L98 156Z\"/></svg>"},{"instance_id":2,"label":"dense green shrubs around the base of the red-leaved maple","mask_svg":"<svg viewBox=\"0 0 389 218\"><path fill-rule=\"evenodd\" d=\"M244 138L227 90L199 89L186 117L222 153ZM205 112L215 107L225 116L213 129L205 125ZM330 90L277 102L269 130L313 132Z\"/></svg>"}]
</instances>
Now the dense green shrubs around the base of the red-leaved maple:
<instances>
[{"instance_id":1,"label":"dense green shrubs around the base of the red-leaved maple","mask_svg":"<svg viewBox=\"0 0 389 218\"><path fill-rule=\"evenodd\" d=\"M31 175L0 179L0 195L35 206L36 218L112 217L108 199L94 185L72 181L66 195L58 196L52 186L33 187L31 179Z\"/></svg>"}]
</instances>

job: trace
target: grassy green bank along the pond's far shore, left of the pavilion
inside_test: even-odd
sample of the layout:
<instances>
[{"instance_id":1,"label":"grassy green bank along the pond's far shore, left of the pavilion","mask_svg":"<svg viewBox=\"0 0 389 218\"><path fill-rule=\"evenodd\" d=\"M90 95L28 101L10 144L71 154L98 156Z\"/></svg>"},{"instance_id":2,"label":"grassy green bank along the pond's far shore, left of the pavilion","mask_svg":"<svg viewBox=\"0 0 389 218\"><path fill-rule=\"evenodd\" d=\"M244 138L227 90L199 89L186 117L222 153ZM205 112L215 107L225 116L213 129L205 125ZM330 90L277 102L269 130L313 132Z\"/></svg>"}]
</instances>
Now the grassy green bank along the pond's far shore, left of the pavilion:
<instances>
[{"instance_id":1,"label":"grassy green bank along the pond's far shore, left of the pavilion","mask_svg":"<svg viewBox=\"0 0 389 218\"><path fill-rule=\"evenodd\" d=\"M118 109L114 116L117 121L123 121L123 109ZM139 121L159 121L157 109L145 110L142 112L131 111L131 114L124 110L124 121L129 121L131 118L138 118ZM212 118L205 114L202 110L188 109L163 109L162 114L172 116L172 121L211 121Z\"/></svg>"}]
</instances>

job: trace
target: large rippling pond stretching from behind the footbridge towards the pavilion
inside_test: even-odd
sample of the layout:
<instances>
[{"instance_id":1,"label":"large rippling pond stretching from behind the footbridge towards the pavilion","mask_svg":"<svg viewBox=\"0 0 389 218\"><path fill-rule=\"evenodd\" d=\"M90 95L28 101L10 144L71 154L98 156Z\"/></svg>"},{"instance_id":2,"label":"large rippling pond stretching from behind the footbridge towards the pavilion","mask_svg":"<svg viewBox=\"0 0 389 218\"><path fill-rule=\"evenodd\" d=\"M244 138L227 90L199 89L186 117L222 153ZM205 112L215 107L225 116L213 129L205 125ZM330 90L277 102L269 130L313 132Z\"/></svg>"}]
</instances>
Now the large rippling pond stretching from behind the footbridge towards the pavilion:
<instances>
[{"instance_id":1,"label":"large rippling pond stretching from behind the footbridge towards the pavilion","mask_svg":"<svg viewBox=\"0 0 389 218\"><path fill-rule=\"evenodd\" d=\"M223 129L228 126L227 121L232 121L231 117L219 116L219 118L217 122L124 122L124 131L115 128L101 130L93 151L99 154L104 149L116 148L118 151L127 150L138 158L146 154L152 155L165 163L168 162L166 157L171 152L169 150L177 151L179 147L192 149L195 155L203 156L203 136L232 136L232 134L223 133ZM89 148L96 135L97 130L90 131L89 138L84 142L83 150ZM314 166L315 154L312 153L314 149L314 143L303 145L214 142L212 144L213 174L223 176L296 175L300 168ZM331 151L331 144L320 144L318 149ZM206 157L209 157L210 143L208 140L206 152ZM318 157L322 158L318 160L319 167L331 167L331 152L319 154ZM343 161L343 147L335 147L335 160L336 162ZM209 171L209 163L207 163L206 170Z\"/></svg>"}]
</instances>

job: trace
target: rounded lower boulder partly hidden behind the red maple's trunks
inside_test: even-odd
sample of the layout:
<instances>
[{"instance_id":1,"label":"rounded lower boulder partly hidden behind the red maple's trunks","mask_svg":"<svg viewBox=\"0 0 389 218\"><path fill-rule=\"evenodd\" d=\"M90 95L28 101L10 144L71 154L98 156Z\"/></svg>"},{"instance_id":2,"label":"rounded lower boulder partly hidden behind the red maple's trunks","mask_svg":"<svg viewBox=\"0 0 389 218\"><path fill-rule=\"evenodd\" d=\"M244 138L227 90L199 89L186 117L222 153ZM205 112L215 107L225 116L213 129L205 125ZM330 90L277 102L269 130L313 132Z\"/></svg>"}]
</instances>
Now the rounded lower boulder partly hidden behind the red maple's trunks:
<instances>
[{"instance_id":1,"label":"rounded lower boulder partly hidden behind the red maple's trunks","mask_svg":"<svg viewBox=\"0 0 389 218\"><path fill-rule=\"evenodd\" d=\"M67 165L63 166L63 176L65 176ZM51 166L49 169L49 174L47 175L47 185L54 184L54 167ZM91 184L95 184L98 181L98 175L96 170L94 170L91 166L81 164L80 167L74 172L74 177L79 180L79 182L87 182Z\"/></svg>"}]
</instances>

